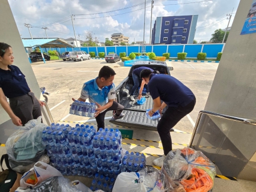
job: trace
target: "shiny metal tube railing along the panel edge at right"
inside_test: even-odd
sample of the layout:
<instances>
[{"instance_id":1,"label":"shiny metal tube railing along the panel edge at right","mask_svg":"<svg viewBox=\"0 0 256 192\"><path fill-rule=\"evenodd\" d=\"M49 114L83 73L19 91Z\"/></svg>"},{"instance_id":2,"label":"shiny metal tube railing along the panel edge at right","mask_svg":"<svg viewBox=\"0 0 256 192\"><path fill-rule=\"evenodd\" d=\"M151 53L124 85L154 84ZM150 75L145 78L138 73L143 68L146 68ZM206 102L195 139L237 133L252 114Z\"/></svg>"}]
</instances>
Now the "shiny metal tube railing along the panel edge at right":
<instances>
[{"instance_id":1,"label":"shiny metal tube railing along the panel edge at right","mask_svg":"<svg viewBox=\"0 0 256 192\"><path fill-rule=\"evenodd\" d=\"M195 134L197 133L198 125L200 124L200 120L201 120L201 117L203 114L216 116L216 117L222 118L222 119L229 119L231 121L242 122L243 124L256 125L256 120L253 120L253 119L238 118L236 116L223 115L223 114L219 114L219 113L213 113L213 112L207 112L205 110L201 110L199 112L197 122L195 123L195 128L194 128L194 131L193 131L190 143L189 143L189 147L192 147L192 143L194 142Z\"/></svg>"}]
</instances>

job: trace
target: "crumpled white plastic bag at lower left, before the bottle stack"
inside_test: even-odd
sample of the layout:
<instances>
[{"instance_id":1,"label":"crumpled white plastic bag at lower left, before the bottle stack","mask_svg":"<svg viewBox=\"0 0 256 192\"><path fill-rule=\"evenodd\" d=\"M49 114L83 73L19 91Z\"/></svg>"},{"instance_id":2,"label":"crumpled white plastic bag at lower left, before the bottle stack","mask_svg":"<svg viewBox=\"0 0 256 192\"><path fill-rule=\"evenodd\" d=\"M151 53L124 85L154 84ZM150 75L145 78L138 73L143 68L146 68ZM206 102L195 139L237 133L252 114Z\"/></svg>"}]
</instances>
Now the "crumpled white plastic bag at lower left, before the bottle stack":
<instances>
[{"instance_id":1,"label":"crumpled white plastic bag at lower left, before the bottle stack","mask_svg":"<svg viewBox=\"0 0 256 192\"><path fill-rule=\"evenodd\" d=\"M38 180L37 183L35 183L35 185L27 184L26 179L28 179L31 175L34 175L34 173ZM32 169L24 173L24 175L20 179L20 186L34 188L35 186L52 176L62 176L62 174L49 164L38 161L37 163L35 163Z\"/></svg>"}]
</instances>

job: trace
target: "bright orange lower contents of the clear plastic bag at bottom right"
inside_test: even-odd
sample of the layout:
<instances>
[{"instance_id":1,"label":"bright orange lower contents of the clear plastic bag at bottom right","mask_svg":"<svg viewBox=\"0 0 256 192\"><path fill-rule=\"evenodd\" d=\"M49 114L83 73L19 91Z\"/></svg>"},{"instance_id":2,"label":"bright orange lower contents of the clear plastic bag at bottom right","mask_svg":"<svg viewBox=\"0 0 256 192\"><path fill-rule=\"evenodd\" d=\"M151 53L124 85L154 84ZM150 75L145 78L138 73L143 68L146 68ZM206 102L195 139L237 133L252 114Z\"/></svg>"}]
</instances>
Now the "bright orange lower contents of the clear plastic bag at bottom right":
<instances>
[{"instance_id":1,"label":"bright orange lower contents of the clear plastic bag at bottom right","mask_svg":"<svg viewBox=\"0 0 256 192\"><path fill-rule=\"evenodd\" d=\"M213 187L212 178L203 170L192 168L191 175L181 182L186 192L207 192Z\"/></svg>"}]
</instances>

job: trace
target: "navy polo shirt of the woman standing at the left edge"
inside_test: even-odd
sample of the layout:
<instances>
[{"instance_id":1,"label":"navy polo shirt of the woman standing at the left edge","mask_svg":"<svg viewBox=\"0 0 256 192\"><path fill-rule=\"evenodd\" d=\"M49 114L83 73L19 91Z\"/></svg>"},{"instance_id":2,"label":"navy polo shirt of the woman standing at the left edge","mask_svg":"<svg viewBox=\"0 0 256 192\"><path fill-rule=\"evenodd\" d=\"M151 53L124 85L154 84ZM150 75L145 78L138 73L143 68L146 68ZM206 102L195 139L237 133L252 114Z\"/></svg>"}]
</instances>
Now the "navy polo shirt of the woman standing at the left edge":
<instances>
[{"instance_id":1,"label":"navy polo shirt of the woman standing at the left edge","mask_svg":"<svg viewBox=\"0 0 256 192\"><path fill-rule=\"evenodd\" d=\"M0 68L0 88L8 98L28 94L30 89L26 82L25 75L15 65L8 65L10 70Z\"/></svg>"}]
</instances>

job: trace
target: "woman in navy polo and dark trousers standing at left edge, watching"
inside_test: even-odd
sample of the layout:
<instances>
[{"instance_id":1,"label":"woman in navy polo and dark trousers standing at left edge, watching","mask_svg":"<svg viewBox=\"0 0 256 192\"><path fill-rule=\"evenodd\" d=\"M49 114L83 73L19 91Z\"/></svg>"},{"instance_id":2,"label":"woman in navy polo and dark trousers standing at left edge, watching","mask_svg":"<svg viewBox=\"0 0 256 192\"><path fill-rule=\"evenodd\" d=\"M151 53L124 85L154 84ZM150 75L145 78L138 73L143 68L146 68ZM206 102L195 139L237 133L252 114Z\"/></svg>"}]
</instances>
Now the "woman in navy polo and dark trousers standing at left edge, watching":
<instances>
[{"instance_id":1,"label":"woman in navy polo and dark trousers standing at left edge, watching","mask_svg":"<svg viewBox=\"0 0 256 192\"><path fill-rule=\"evenodd\" d=\"M42 101L35 98L26 83L25 75L13 64L13 50L0 43L0 104L13 124L25 125L29 120L41 116ZM10 100L10 105L6 97Z\"/></svg>"}]
</instances>

